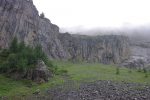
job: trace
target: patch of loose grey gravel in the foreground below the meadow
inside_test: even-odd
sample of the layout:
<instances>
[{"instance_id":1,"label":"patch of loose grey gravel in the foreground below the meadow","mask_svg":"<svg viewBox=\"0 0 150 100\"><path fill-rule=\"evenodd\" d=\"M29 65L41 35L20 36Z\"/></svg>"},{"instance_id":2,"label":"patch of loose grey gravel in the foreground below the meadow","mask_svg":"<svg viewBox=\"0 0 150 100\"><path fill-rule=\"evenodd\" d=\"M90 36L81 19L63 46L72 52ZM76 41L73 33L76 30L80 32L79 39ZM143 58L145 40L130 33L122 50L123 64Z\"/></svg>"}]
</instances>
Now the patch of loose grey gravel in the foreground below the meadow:
<instances>
[{"instance_id":1,"label":"patch of loose grey gravel in the foreground below the meadow","mask_svg":"<svg viewBox=\"0 0 150 100\"><path fill-rule=\"evenodd\" d=\"M97 81L82 84L79 89L67 90L63 86L50 89L47 95L50 100L150 100L150 86Z\"/></svg>"}]
</instances>

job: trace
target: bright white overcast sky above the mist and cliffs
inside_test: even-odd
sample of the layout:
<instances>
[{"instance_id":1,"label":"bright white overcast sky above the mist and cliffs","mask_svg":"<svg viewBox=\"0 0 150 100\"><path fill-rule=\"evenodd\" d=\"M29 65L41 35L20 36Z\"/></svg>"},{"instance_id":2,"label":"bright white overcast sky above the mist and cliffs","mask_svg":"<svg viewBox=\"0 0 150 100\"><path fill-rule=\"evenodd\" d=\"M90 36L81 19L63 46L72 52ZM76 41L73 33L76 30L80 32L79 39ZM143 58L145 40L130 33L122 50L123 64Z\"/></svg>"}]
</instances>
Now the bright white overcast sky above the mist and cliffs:
<instances>
[{"instance_id":1,"label":"bright white overcast sky above the mist and cliffs","mask_svg":"<svg viewBox=\"0 0 150 100\"><path fill-rule=\"evenodd\" d=\"M130 27L150 23L150 0L33 0L60 28Z\"/></svg>"}]
</instances>

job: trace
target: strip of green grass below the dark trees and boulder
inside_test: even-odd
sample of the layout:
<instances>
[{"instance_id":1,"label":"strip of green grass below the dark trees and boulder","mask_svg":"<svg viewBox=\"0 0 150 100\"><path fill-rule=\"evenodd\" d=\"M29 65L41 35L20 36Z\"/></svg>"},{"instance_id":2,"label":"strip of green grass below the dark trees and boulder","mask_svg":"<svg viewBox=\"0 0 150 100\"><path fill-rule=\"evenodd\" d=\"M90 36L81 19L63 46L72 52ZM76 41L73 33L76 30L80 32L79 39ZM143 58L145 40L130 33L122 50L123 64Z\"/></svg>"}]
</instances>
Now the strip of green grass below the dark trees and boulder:
<instances>
[{"instance_id":1,"label":"strip of green grass below the dark trees and boulder","mask_svg":"<svg viewBox=\"0 0 150 100\"><path fill-rule=\"evenodd\" d=\"M15 81L0 75L0 97L26 96L37 90L44 92L46 89L62 83L63 79L58 76L54 76L48 83L39 85L28 80Z\"/></svg>"}]
</instances>

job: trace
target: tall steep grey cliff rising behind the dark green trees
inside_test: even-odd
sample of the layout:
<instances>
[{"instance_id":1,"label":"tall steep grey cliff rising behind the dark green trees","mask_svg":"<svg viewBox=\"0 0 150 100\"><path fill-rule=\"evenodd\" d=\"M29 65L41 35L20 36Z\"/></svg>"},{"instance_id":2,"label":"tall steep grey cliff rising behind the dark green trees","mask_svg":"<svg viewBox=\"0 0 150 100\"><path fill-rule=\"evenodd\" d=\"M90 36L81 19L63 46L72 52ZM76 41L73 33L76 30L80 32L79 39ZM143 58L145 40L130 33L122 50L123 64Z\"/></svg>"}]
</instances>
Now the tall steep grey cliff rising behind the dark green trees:
<instances>
[{"instance_id":1,"label":"tall steep grey cliff rising behind the dark green trees","mask_svg":"<svg viewBox=\"0 0 150 100\"><path fill-rule=\"evenodd\" d=\"M32 0L0 0L1 48L16 36L28 45L40 43L51 58L65 58L58 33L58 26L39 16Z\"/></svg>"}]
</instances>

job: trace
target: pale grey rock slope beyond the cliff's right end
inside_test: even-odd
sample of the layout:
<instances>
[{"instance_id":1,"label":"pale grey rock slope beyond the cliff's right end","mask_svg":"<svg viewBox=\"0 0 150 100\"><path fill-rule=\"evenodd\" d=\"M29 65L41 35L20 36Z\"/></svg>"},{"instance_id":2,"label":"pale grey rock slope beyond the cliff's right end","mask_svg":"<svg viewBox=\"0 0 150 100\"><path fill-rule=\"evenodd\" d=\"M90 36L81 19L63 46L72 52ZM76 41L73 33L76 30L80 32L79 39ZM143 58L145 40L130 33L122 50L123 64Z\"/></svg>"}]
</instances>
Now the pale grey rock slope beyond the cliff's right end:
<instances>
[{"instance_id":1,"label":"pale grey rock slope beyond the cliff's right end","mask_svg":"<svg viewBox=\"0 0 150 100\"><path fill-rule=\"evenodd\" d=\"M121 66L137 69L150 69L150 45L149 40L130 40L130 57Z\"/></svg>"}]
</instances>

